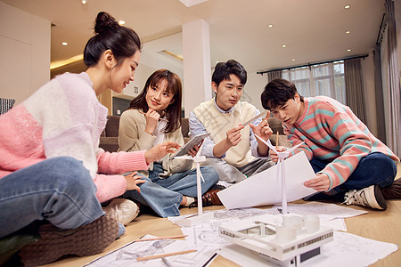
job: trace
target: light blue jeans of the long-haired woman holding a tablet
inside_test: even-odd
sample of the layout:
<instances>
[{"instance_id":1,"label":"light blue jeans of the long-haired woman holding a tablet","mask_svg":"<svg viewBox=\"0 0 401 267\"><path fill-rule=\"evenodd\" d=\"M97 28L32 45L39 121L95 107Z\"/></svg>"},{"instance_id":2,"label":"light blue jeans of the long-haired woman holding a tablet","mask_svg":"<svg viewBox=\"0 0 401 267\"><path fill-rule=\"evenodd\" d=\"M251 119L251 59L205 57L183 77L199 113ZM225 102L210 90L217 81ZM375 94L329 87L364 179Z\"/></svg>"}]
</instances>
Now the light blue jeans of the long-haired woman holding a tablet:
<instances>
[{"instance_id":1,"label":"light blue jeans of the long-haired woman holding a tablet","mask_svg":"<svg viewBox=\"0 0 401 267\"><path fill-rule=\"evenodd\" d=\"M143 205L151 206L161 217L178 216L183 195L197 197L196 169L160 179L159 174L163 172L160 163L154 163L153 170L149 171L149 178L143 177L146 182L139 184L141 193L136 190L127 190L124 197L134 198ZM218 182L218 174L211 166L202 166L201 173L205 179L205 182L201 181L203 194Z\"/></svg>"}]
</instances>

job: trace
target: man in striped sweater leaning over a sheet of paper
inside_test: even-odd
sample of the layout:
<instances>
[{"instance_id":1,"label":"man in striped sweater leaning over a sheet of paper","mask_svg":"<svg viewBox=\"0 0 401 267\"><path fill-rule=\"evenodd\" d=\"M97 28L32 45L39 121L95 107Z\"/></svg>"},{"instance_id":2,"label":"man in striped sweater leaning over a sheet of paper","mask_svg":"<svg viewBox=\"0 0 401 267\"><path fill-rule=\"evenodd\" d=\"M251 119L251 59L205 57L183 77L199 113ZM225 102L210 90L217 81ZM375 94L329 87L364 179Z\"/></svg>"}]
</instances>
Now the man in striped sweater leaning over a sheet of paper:
<instances>
[{"instance_id":1,"label":"man in striped sweater leaning over a sheet of paper","mask_svg":"<svg viewBox=\"0 0 401 267\"><path fill-rule=\"evenodd\" d=\"M305 152L315 170L304 185L317 193L307 200L385 210L385 198L401 198L401 179L394 181L399 158L347 106L325 96L304 98L284 79L268 83L261 100L293 146L305 142L292 155Z\"/></svg>"}]
</instances>

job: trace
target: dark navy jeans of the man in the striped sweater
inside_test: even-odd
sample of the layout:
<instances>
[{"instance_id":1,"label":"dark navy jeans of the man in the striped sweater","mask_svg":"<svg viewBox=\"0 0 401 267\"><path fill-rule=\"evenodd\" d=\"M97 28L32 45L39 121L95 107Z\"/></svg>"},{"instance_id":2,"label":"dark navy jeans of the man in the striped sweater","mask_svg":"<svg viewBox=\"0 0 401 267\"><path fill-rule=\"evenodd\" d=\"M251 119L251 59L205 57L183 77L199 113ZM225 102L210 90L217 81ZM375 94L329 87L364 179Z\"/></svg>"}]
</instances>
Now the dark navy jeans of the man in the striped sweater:
<instances>
[{"instance_id":1,"label":"dark navy jeans of the man in the striped sweater","mask_svg":"<svg viewBox=\"0 0 401 267\"><path fill-rule=\"evenodd\" d=\"M323 170L330 162L325 162L313 158L310 161L315 173ZM329 195L336 196L336 198L343 198L344 194L349 190L361 190L372 184L379 185L380 188L387 187L394 182L397 174L396 163L381 152L371 153L359 161L358 166L348 179L341 183L339 186L330 190ZM340 195L339 195L340 194ZM318 200L317 198L329 198L328 194L318 193L307 200Z\"/></svg>"}]
</instances>

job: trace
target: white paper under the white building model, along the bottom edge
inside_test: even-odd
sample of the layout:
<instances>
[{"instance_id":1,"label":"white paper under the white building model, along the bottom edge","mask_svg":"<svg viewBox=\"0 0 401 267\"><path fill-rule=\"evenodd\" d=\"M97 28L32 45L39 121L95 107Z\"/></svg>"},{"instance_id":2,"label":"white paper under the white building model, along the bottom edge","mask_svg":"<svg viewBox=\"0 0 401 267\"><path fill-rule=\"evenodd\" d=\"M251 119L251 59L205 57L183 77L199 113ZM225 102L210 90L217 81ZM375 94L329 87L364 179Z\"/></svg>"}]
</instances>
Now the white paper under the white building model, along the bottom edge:
<instances>
[{"instance_id":1,"label":"white paper under the white building model, along the bottom edge","mask_svg":"<svg viewBox=\"0 0 401 267\"><path fill-rule=\"evenodd\" d=\"M305 266L368 266L392 254L397 249L397 245L392 243L364 239L350 233L334 231L334 240L323 246L323 256ZM241 266L277 266L260 258L249 249L235 244L222 247L218 254Z\"/></svg>"}]
</instances>

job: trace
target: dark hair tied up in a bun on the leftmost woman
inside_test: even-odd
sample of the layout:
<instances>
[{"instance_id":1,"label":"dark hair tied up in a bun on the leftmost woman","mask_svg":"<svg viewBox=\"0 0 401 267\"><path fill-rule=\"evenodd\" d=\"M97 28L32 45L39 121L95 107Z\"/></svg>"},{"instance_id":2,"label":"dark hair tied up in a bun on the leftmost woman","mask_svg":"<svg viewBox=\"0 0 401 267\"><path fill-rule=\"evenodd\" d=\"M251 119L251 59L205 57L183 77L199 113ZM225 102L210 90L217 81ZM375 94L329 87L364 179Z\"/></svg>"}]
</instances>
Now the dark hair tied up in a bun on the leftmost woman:
<instances>
[{"instance_id":1,"label":"dark hair tied up in a bun on the leftmost woman","mask_svg":"<svg viewBox=\"0 0 401 267\"><path fill-rule=\"evenodd\" d=\"M141 51L141 40L131 28L120 26L109 13L99 12L95 25L95 35L87 41L84 50L86 67L92 67L100 60L102 53L110 49L117 60L117 66L136 51Z\"/></svg>"}]
</instances>

